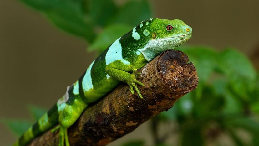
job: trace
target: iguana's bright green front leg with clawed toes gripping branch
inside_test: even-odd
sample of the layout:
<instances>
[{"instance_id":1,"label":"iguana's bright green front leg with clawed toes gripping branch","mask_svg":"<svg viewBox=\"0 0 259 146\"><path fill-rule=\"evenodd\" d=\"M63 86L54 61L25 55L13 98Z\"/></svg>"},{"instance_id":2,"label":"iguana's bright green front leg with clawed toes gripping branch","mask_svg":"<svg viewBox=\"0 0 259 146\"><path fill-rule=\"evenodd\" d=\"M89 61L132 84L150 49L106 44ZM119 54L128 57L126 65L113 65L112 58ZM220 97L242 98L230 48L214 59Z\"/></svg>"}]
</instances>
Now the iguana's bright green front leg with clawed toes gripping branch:
<instances>
[{"instance_id":1,"label":"iguana's bright green front leg with clawed toes gripping branch","mask_svg":"<svg viewBox=\"0 0 259 146\"><path fill-rule=\"evenodd\" d=\"M127 83L130 86L130 92L132 94L134 94L135 89L140 98L143 98L136 84L139 84L141 86L145 85L140 81L136 80L136 77L139 76L140 73L137 73L137 69L134 68L133 65L125 64L121 60L116 60L107 65L105 67L105 71L109 76L111 76L115 80ZM129 72L132 72L132 74L130 74Z\"/></svg>"}]
</instances>

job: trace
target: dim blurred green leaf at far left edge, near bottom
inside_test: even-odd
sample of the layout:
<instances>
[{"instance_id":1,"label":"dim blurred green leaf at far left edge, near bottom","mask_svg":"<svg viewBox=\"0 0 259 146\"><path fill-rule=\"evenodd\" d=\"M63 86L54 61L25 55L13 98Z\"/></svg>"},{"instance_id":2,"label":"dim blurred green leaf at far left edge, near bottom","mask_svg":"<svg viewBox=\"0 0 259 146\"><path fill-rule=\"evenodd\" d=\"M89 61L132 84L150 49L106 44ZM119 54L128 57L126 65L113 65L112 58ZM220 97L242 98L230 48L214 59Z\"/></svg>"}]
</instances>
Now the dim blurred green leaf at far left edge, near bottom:
<instances>
[{"instance_id":1,"label":"dim blurred green leaf at far left edge, near bottom","mask_svg":"<svg viewBox=\"0 0 259 146\"><path fill-rule=\"evenodd\" d=\"M16 136L21 136L32 125L21 119L1 119L1 122Z\"/></svg>"}]
</instances>

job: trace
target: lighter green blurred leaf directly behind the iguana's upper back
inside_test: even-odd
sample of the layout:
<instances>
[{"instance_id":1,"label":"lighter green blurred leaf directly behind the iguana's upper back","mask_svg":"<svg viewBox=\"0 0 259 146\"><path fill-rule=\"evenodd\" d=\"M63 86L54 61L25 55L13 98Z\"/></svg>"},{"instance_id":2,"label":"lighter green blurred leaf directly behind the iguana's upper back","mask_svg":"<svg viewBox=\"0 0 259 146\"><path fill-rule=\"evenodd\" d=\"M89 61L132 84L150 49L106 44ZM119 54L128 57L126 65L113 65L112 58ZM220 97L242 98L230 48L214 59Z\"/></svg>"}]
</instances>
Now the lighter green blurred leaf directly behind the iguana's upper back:
<instances>
[{"instance_id":1,"label":"lighter green blurred leaf directly behind the iguana's upper back","mask_svg":"<svg viewBox=\"0 0 259 146\"><path fill-rule=\"evenodd\" d=\"M88 50L103 52L116 39L130 31L131 27L124 24L114 24L106 27L89 46Z\"/></svg>"}]
</instances>

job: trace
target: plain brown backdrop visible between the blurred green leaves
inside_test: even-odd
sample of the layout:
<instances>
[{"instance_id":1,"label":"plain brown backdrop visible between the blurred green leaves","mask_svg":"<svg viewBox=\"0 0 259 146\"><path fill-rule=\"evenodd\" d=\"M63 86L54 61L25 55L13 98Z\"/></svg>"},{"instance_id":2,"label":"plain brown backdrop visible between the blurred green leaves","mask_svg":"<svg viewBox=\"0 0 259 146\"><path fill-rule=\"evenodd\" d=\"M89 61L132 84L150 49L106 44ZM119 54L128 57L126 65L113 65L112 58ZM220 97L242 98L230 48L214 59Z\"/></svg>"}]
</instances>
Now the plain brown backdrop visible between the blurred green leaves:
<instances>
[{"instance_id":1,"label":"plain brown backdrop visible between the blurred green leaves","mask_svg":"<svg viewBox=\"0 0 259 146\"><path fill-rule=\"evenodd\" d=\"M206 45L219 50L236 47L258 65L258 0L150 2L156 18L182 19L193 28L193 36L186 45ZM29 118L26 111L29 103L50 107L94 60L94 53L88 53L86 47L84 40L59 31L44 16L19 1L1 1L0 118ZM147 126L140 126L118 143L129 138L144 138L151 143ZM0 146L10 145L14 140L0 125Z\"/></svg>"}]
</instances>

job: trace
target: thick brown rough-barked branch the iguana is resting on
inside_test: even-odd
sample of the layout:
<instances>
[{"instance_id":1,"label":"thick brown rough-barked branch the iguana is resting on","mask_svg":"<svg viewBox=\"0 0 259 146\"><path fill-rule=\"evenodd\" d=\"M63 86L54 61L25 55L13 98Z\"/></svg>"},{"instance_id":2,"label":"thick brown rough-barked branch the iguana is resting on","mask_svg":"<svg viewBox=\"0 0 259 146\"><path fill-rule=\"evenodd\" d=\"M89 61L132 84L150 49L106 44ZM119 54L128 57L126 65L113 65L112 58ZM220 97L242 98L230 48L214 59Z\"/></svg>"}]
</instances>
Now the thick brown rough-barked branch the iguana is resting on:
<instances>
[{"instance_id":1,"label":"thick brown rough-barked branch the iguana is resting on","mask_svg":"<svg viewBox=\"0 0 259 146\"><path fill-rule=\"evenodd\" d=\"M156 57L138 72L142 75L140 99L122 83L109 95L90 105L68 129L71 146L104 146L127 133L174 103L198 85L194 65L181 51L167 51ZM58 131L35 138L29 146L57 146Z\"/></svg>"}]
</instances>

